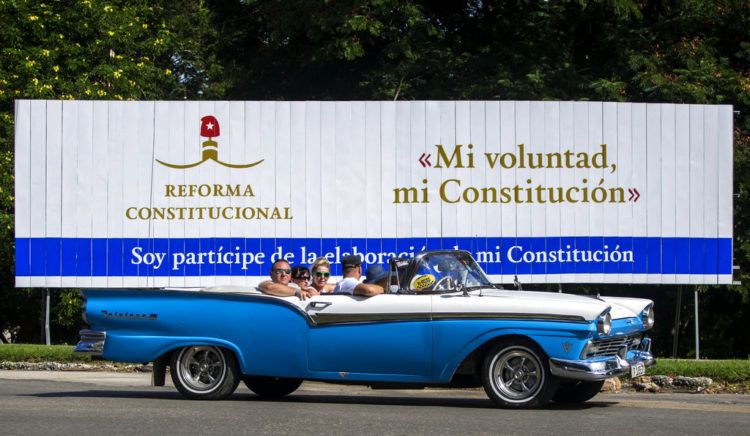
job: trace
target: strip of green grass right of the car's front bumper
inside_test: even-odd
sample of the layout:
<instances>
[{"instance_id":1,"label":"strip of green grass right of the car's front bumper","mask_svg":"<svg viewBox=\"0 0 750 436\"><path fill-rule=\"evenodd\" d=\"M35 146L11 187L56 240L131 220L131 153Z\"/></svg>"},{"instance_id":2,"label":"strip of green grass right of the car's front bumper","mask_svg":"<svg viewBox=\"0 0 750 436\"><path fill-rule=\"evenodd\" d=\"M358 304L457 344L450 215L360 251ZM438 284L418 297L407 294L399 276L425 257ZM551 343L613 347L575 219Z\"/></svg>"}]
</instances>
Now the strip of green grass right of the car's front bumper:
<instances>
[{"instance_id":1,"label":"strip of green grass right of the car's front bumper","mask_svg":"<svg viewBox=\"0 0 750 436\"><path fill-rule=\"evenodd\" d=\"M750 360L656 359L646 375L710 377L715 382L750 381Z\"/></svg>"}]
</instances>

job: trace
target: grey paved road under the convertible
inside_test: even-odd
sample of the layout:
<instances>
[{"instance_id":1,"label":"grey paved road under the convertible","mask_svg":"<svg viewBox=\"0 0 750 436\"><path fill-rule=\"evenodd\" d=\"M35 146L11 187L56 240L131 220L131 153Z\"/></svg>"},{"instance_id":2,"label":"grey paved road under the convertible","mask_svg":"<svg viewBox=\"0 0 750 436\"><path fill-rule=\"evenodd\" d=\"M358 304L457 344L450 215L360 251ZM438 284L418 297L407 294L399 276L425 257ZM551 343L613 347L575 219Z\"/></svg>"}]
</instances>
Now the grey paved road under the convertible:
<instances>
[{"instance_id":1,"label":"grey paved road under the convertible","mask_svg":"<svg viewBox=\"0 0 750 436\"><path fill-rule=\"evenodd\" d=\"M728 434L750 433L750 396L600 394L581 406L499 410L476 390L377 390L305 383L280 401L240 386L182 400L149 374L0 371L0 433L35 434Z\"/></svg>"}]
</instances>

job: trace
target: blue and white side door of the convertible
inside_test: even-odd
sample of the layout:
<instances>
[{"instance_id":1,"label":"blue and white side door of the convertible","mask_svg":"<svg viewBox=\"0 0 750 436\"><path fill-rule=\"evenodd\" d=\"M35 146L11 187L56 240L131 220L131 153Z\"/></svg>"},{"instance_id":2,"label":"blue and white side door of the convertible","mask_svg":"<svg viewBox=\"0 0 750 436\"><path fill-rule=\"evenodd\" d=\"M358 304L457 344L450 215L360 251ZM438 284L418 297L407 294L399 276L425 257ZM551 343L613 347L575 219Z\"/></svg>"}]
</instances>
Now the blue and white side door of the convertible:
<instances>
[{"instance_id":1,"label":"blue and white side door of the convertible","mask_svg":"<svg viewBox=\"0 0 750 436\"><path fill-rule=\"evenodd\" d=\"M425 295L313 297L305 308L313 321L310 371L335 379L425 380L432 375L430 305Z\"/></svg>"}]
</instances>

